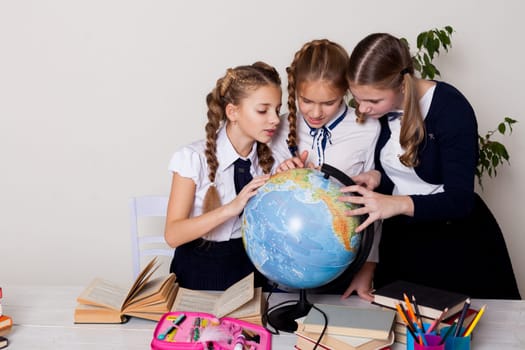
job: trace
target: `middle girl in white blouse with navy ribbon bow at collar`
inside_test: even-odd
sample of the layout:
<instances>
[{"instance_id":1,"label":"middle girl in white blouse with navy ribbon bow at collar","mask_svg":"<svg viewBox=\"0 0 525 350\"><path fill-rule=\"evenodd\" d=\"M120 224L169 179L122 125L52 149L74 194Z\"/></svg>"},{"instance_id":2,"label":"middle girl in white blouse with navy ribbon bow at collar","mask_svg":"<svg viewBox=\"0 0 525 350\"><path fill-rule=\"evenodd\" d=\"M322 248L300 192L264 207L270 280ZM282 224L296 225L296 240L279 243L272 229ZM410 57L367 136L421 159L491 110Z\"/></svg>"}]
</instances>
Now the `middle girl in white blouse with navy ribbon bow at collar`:
<instances>
[{"instance_id":1,"label":"middle girl in white blouse with navy ribbon bow at collar","mask_svg":"<svg viewBox=\"0 0 525 350\"><path fill-rule=\"evenodd\" d=\"M288 123L282 125L271 147L277 171L320 167L327 163L353 177L373 169L379 123L358 118L346 96L348 54L327 39L307 42L295 53L288 73ZM368 261L355 275L350 272L319 292L357 292L371 300L372 277L377 262L379 225Z\"/></svg>"}]
</instances>

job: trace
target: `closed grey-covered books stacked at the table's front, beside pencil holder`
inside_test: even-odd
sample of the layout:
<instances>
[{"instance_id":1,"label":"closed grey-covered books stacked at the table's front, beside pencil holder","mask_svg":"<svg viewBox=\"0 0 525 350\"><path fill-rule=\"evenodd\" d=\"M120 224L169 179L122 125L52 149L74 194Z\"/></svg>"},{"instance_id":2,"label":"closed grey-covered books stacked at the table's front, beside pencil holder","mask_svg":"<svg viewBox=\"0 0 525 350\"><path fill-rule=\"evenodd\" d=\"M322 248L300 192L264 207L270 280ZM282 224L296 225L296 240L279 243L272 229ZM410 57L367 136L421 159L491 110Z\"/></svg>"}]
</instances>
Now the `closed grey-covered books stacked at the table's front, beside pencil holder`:
<instances>
[{"instance_id":1,"label":"closed grey-covered books stacked at the table's front, beside pencil holder","mask_svg":"<svg viewBox=\"0 0 525 350\"><path fill-rule=\"evenodd\" d=\"M361 309L350 306L314 304L306 317L298 320L295 348L310 350L321 336L318 349L377 350L394 342L395 312L384 309Z\"/></svg>"}]
</instances>

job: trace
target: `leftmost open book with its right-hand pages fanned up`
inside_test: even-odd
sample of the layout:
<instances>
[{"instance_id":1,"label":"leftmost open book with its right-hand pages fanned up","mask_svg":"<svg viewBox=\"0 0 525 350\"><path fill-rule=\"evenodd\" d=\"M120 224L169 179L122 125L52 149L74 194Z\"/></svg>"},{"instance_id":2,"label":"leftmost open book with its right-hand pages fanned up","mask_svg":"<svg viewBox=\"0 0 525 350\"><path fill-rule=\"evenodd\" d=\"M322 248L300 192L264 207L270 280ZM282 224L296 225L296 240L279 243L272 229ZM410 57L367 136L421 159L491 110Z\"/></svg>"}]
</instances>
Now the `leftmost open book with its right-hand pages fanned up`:
<instances>
[{"instance_id":1,"label":"leftmost open book with its right-hand pages fanned up","mask_svg":"<svg viewBox=\"0 0 525 350\"><path fill-rule=\"evenodd\" d=\"M127 288L95 278L77 298L75 323L122 323L128 316L158 321L170 311L177 284L173 273L152 279L157 268L154 258Z\"/></svg>"}]
</instances>

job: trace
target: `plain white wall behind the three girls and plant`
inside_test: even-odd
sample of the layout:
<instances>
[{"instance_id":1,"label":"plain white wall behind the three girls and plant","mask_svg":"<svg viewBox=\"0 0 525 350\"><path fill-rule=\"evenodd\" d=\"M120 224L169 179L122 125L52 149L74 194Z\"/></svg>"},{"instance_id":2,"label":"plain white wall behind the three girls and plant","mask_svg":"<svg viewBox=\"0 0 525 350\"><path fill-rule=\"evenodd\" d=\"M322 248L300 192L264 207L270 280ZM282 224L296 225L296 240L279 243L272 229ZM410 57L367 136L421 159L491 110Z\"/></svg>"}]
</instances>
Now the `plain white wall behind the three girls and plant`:
<instances>
[{"instance_id":1,"label":"plain white wall behind the three girls and plant","mask_svg":"<svg viewBox=\"0 0 525 350\"><path fill-rule=\"evenodd\" d=\"M167 194L167 163L203 137L205 94L227 67L283 74L308 40L351 50L386 31L452 25L437 63L505 138L512 165L485 180L525 294L521 0L0 1L0 283L131 279L127 203ZM487 257L490 258L490 257ZM490 283L490 273L487 273Z\"/></svg>"}]
</instances>

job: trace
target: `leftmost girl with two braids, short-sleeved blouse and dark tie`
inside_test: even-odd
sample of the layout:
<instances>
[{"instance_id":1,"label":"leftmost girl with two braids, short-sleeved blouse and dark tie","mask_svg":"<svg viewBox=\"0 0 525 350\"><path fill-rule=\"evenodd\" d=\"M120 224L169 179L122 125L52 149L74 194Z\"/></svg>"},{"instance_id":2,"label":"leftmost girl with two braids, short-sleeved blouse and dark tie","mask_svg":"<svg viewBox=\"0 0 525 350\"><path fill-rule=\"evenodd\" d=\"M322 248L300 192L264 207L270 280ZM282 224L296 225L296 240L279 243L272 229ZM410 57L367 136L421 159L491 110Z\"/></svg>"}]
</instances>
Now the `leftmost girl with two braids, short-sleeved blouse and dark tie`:
<instances>
[{"instance_id":1,"label":"leftmost girl with two braids, short-sleeved blouse and dark tie","mask_svg":"<svg viewBox=\"0 0 525 350\"><path fill-rule=\"evenodd\" d=\"M228 69L206 98L206 139L171 158L165 239L177 248L170 271L184 288L224 290L254 272L268 289L244 250L240 214L274 164L266 144L280 121L280 85L263 62Z\"/></svg>"}]
</instances>

